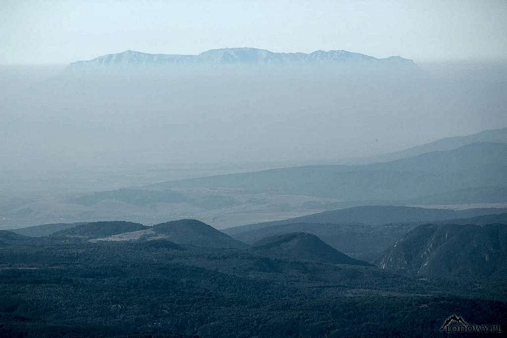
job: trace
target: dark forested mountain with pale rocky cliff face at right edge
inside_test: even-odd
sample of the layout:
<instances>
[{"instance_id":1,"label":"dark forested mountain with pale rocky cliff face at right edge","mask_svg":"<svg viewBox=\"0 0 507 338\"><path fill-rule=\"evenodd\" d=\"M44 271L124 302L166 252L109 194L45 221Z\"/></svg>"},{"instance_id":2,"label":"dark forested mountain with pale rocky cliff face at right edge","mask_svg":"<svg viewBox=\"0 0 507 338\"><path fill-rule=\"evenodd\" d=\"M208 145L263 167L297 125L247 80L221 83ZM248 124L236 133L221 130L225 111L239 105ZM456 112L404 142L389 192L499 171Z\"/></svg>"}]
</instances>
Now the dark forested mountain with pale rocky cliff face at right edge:
<instances>
[{"instance_id":1,"label":"dark forested mountain with pale rocky cliff face at right edge","mask_svg":"<svg viewBox=\"0 0 507 338\"><path fill-rule=\"evenodd\" d=\"M506 257L505 224L425 224L397 240L378 266L439 276L491 276L507 272Z\"/></svg>"}]
</instances>

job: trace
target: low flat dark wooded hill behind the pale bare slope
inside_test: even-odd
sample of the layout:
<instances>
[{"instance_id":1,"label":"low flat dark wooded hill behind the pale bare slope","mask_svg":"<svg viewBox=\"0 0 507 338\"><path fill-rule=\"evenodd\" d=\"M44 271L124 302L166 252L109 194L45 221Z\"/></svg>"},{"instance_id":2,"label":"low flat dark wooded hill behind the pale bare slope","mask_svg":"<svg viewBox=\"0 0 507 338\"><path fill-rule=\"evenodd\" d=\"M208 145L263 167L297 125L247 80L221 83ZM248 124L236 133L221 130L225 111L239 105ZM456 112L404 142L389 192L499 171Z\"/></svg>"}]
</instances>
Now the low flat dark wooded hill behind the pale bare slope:
<instances>
[{"instance_id":1,"label":"low flat dark wooded hill behind the pale bare slope","mask_svg":"<svg viewBox=\"0 0 507 338\"><path fill-rule=\"evenodd\" d=\"M139 223L125 221L102 221L82 224L74 228L58 231L52 237L100 238L122 233L149 229Z\"/></svg>"}]
</instances>

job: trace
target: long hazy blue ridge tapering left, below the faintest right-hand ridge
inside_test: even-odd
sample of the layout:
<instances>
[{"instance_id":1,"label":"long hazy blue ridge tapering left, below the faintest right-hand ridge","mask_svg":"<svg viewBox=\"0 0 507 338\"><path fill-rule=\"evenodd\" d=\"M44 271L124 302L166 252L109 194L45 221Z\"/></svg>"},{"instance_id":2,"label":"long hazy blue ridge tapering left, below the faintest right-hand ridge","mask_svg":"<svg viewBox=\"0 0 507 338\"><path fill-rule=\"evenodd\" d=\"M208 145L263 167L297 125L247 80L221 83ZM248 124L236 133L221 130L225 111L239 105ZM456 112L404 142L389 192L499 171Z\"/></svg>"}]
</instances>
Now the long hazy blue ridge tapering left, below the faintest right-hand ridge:
<instances>
[{"instance_id":1,"label":"long hazy blue ridge tapering left, below the faintest right-hand ridge","mask_svg":"<svg viewBox=\"0 0 507 338\"><path fill-rule=\"evenodd\" d=\"M281 168L163 182L150 187L232 188L251 193L369 201L369 204L372 201L406 204L400 202L459 189L507 186L505 172L507 144L479 142L372 165Z\"/></svg>"}]
</instances>

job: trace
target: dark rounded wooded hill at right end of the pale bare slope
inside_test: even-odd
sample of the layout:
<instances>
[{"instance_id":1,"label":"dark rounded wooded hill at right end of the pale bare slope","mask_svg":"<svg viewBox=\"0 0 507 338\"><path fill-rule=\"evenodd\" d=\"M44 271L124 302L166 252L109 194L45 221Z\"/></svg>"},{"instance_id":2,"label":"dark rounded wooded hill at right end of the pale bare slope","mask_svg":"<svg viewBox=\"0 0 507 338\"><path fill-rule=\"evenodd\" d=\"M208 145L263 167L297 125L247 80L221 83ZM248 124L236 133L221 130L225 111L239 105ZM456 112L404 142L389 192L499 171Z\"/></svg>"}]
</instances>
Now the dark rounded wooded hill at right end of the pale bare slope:
<instances>
[{"instance_id":1,"label":"dark rounded wooded hill at right end of the pale bare slope","mask_svg":"<svg viewBox=\"0 0 507 338\"><path fill-rule=\"evenodd\" d=\"M153 231L176 244L205 248L243 248L247 245L196 219L180 219L155 224Z\"/></svg>"}]
</instances>

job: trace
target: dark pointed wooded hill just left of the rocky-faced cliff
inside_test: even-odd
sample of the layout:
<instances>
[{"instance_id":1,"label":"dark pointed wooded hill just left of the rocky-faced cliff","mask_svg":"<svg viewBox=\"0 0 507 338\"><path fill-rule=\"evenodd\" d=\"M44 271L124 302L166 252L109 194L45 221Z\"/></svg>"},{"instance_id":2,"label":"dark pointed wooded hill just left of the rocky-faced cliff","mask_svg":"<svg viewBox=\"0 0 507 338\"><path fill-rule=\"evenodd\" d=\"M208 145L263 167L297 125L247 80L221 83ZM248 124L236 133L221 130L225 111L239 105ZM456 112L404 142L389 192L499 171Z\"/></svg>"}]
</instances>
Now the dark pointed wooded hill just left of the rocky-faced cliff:
<instances>
[{"instance_id":1,"label":"dark pointed wooded hill just left of the rocky-faced cliff","mask_svg":"<svg viewBox=\"0 0 507 338\"><path fill-rule=\"evenodd\" d=\"M267 237L252 246L256 253L271 257L370 266L365 261L353 259L336 250L317 236L303 232Z\"/></svg>"}]
</instances>

